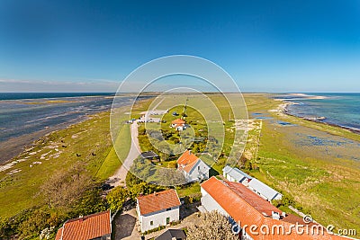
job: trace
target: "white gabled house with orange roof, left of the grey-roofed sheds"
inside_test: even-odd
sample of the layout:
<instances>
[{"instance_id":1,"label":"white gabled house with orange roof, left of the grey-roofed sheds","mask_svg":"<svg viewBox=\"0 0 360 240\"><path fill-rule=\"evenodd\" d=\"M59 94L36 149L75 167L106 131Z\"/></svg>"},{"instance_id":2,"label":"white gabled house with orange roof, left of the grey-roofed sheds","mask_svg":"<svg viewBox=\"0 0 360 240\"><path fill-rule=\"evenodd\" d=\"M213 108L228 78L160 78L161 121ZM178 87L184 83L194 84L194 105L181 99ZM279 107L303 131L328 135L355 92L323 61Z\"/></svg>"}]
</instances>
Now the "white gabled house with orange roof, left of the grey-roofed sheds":
<instances>
[{"instance_id":1,"label":"white gabled house with orange roof, left of the grey-roofed sheds","mask_svg":"<svg viewBox=\"0 0 360 240\"><path fill-rule=\"evenodd\" d=\"M186 150L177 159L177 169L183 172L187 182L196 182L208 179L211 167L195 156L191 150Z\"/></svg>"}]
</instances>

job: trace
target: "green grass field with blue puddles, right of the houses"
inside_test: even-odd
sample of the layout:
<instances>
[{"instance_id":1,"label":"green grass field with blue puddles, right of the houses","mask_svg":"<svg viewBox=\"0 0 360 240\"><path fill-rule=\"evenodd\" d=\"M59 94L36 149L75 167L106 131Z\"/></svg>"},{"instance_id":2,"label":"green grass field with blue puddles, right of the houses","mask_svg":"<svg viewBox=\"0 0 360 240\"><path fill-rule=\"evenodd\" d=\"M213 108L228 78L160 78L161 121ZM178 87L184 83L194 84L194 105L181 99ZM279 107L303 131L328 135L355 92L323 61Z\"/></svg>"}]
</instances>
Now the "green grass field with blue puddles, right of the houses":
<instances>
[{"instance_id":1,"label":"green grass field with blue puddles, right of the houses","mask_svg":"<svg viewBox=\"0 0 360 240\"><path fill-rule=\"evenodd\" d=\"M358 142L336 147L327 146L326 143L316 146L311 144L311 138L337 143L344 141L344 137L358 140L359 135L346 129L269 111L276 110L281 102L267 96L245 96L250 115L257 112L272 118L262 120L258 158L252 159L258 169L250 174L293 197L320 224L355 228L358 232L360 164L351 160L352 157L360 158L356 147ZM296 126L283 127L276 124L277 120ZM257 133L249 134L249 138L257 138Z\"/></svg>"}]
</instances>

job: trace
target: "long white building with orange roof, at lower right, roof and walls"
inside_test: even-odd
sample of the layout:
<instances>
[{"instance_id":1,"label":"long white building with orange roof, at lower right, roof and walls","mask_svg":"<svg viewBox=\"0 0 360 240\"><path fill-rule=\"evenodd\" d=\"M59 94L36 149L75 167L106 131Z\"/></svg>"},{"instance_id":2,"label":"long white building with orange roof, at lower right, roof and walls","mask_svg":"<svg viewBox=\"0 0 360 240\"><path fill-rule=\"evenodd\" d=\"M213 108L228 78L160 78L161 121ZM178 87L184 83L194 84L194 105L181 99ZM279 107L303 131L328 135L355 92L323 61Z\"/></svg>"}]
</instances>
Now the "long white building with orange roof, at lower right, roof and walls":
<instances>
[{"instance_id":1,"label":"long white building with orange roof, at lower right, roof and walls","mask_svg":"<svg viewBox=\"0 0 360 240\"><path fill-rule=\"evenodd\" d=\"M251 180L250 182L254 181ZM238 232L239 239L311 239L311 240L340 240L348 239L337 236L318 228L312 233L299 231L304 226L303 218L286 214L277 209L269 201L260 197L240 182L229 182L211 177L202 182L202 210L217 210L226 217L232 225L232 230ZM310 227L321 227L317 223L310 223ZM311 228L311 229L315 229ZM315 234L314 234L315 233Z\"/></svg>"}]
</instances>

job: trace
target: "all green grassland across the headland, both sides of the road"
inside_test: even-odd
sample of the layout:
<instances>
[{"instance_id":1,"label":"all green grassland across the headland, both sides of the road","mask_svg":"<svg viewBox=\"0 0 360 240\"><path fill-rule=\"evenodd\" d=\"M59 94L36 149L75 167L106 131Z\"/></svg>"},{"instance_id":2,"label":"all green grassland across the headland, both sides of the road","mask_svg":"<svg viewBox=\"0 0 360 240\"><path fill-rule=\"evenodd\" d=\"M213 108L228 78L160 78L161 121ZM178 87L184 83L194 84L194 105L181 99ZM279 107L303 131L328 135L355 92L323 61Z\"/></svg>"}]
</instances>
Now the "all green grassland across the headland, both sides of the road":
<instances>
[{"instance_id":1,"label":"all green grassland across the headland, both sides of the road","mask_svg":"<svg viewBox=\"0 0 360 240\"><path fill-rule=\"evenodd\" d=\"M176 103L184 105L185 100L189 99L189 105L193 106L189 107L187 120L193 122L193 129L197 133L204 128L204 121L212 118L213 124L217 124L220 117L221 124L214 126L223 127L215 128L219 130L215 134L219 134L220 138L224 134L221 142L223 147L219 160L212 164L212 168L221 174L233 147L234 128L238 124L234 119L237 118L229 111L229 104L220 94L207 95L215 103L217 112L213 112L211 103L204 104L197 101L197 97L183 95ZM238 167L283 192L293 200L294 207L311 213L320 224L355 228L359 232L360 135L347 129L286 115L279 111L282 102L271 99L268 94L248 93L244 97L249 129L247 135L243 135L244 139L236 139L236 149L246 145L244 154L238 159ZM154 103L152 100L137 102L131 117L139 118L141 111L153 109L159 101ZM165 99L158 104L157 110L170 111L162 119L166 122L158 123L159 126L154 125L153 128L171 130L168 125L175 119L172 111L182 112L182 106L176 107L173 103L171 99ZM196 109L198 111L194 111ZM38 192L42 182L58 169L69 168L75 162L85 163L86 170L98 181L111 176L121 161L112 147L109 116L109 112L103 112L67 129L55 131L15 157L12 161L17 164L0 172L0 217L11 217L22 209L40 204ZM124 120L128 117L124 115ZM283 125L281 122L289 124ZM240 129L240 133L244 132ZM118 138L130 139L129 125L121 127ZM168 139L172 143L174 140ZM144 147L143 142L140 145ZM129 148L130 140L117 149L119 156L125 158ZM207 161L206 157L204 159ZM166 167L175 167L174 160L168 161ZM199 184L176 189L181 197L200 192ZM286 206L281 208L289 210Z\"/></svg>"}]
</instances>

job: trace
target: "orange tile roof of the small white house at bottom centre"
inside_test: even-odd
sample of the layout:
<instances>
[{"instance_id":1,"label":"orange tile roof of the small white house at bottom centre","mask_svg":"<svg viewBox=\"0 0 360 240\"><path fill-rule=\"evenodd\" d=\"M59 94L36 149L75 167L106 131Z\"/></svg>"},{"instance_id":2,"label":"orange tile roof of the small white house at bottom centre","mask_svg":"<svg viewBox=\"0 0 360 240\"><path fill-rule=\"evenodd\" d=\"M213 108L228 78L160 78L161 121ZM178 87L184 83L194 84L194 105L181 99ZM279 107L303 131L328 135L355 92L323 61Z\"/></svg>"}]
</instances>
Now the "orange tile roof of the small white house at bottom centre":
<instances>
[{"instance_id":1,"label":"orange tile roof of the small white house at bottom centre","mask_svg":"<svg viewBox=\"0 0 360 240\"><path fill-rule=\"evenodd\" d=\"M174 189L154 192L138 198L141 215L180 206L180 200Z\"/></svg>"}]
</instances>

